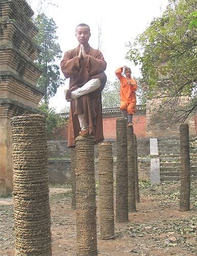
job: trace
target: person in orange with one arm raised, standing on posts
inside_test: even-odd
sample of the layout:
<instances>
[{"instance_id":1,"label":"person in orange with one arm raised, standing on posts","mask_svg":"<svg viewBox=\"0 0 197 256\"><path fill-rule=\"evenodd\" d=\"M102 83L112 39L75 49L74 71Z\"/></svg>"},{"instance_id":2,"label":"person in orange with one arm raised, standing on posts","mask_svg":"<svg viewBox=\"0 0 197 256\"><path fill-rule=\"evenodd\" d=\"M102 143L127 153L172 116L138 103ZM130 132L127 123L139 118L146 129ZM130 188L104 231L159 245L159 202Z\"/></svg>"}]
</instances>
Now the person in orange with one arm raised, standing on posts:
<instances>
[{"instance_id":1,"label":"person in orange with one arm raised, standing on posts","mask_svg":"<svg viewBox=\"0 0 197 256\"><path fill-rule=\"evenodd\" d=\"M122 75L123 69L125 76ZM120 81L120 111L122 116L127 119L127 126L133 125L133 114L136 113L136 80L131 78L131 69L127 66L121 67L115 71L115 75Z\"/></svg>"}]
</instances>

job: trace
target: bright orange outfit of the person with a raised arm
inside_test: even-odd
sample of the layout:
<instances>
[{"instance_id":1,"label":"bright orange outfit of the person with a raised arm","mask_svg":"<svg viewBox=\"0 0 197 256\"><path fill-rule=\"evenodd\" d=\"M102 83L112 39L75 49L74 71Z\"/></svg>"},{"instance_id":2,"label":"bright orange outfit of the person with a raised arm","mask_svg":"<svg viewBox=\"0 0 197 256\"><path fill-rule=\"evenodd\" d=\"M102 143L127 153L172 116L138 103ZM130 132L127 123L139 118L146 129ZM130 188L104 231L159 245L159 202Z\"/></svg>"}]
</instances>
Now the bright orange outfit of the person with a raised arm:
<instances>
[{"instance_id":1,"label":"bright orange outfit of the person with a raised arm","mask_svg":"<svg viewBox=\"0 0 197 256\"><path fill-rule=\"evenodd\" d=\"M126 78L122 75L122 68L115 71L116 76L120 81L120 110L127 110L128 114L136 113L136 95L137 82L132 78ZM131 82L131 85L128 84Z\"/></svg>"}]
</instances>

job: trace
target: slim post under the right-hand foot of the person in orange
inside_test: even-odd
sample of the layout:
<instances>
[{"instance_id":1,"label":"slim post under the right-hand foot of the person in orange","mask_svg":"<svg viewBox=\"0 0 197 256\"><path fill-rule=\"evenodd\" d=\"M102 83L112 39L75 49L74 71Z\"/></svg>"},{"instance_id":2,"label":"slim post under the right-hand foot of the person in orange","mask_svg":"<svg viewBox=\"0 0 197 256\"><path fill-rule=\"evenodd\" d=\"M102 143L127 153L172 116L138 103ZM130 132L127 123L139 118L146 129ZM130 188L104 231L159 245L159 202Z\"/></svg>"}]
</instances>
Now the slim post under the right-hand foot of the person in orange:
<instances>
[{"instance_id":1,"label":"slim post under the right-hand foot of the person in orange","mask_svg":"<svg viewBox=\"0 0 197 256\"><path fill-rule=\"evenodd\" d=\"M136 211L133 127L127 127L128 209Z\"/></svg>"}]
</instances>

